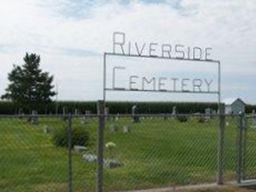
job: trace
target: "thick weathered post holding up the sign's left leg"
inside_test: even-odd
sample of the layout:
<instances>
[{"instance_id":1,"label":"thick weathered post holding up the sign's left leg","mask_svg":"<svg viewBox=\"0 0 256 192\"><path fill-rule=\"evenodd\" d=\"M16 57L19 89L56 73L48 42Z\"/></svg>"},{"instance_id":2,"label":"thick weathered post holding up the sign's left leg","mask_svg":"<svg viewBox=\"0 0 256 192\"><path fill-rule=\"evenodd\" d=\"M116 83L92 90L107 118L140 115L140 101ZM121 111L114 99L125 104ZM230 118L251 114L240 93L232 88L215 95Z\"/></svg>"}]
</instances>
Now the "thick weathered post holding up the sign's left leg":
<instances>
[{"instance_id":1,"label":"thick weathered post holding up the sign's left leg","mask_svg":"<svg viewBox=\"0 0 256 192\"><path fill-rule=\"evenodd\" d=\"M104 152L104 127L105 127L105 102L98 101L98 130L97 130L97 179L96 192L103 192L103 152Z\"/></svg>"}]
</instances>

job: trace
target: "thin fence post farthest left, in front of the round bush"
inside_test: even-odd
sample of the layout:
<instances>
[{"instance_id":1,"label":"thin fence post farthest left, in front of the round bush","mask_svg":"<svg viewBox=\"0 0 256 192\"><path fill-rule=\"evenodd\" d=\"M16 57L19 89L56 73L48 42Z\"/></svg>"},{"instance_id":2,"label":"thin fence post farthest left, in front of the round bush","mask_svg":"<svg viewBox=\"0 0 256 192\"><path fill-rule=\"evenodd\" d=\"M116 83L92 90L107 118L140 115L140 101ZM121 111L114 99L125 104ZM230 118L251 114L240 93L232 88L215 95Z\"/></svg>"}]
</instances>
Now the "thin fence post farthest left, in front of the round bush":
<instances>
[{"instance_id":1,"label":"thin fence post farthest left, in front of the round bush","mask_svg":"<svg viewBox=\"0 0 256 192\"><path fill-rule=\"evenodd\" d=\"M72 192L72 115L68 115L68 192Z\"/></svg>"}]
</instances>

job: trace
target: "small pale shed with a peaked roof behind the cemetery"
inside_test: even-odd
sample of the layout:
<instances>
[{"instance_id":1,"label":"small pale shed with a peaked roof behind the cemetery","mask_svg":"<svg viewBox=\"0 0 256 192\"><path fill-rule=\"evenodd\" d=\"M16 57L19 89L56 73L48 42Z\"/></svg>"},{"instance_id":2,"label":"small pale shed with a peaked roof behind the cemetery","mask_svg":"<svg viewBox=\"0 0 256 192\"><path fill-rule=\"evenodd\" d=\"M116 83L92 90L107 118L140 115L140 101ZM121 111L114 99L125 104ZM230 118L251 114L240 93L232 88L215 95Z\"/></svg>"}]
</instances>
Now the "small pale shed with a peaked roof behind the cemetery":
<instances>
[{"instance_id":1,"label":"small pale shed with a peaked roof behind the cemetery","mask_svg":"<svg viewBox=\"0 0 256 192\"><path fill-rule=\"evenodd\" d=\"M224 99L225 114L239 114L245 112L245 102L240 98L228 98Z\"/></svg>"}]
</instances>

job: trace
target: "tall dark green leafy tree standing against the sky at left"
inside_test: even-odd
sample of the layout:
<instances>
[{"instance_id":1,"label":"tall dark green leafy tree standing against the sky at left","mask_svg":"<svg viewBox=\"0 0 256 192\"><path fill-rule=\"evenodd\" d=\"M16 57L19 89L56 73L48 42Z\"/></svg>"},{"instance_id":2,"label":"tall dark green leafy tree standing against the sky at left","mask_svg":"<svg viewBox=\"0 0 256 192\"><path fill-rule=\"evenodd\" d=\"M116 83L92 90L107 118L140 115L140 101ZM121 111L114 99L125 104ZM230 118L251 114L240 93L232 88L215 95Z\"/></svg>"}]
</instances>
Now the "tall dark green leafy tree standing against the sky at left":
<instances>
[{"instance_id":1,"label":"tall dark green leafy tree standing against the sky at left","mask_svg":"<svg viewBox=\"0 0 256 192\"><path fill-rule=\"evenodd\" d=\"M26 53L22 66L13 66L8 74L10 81L2 99L13 101L18 107L31 112L51 103L56 95L53 89L53 76L43 72L39 67L40 56Z\"/></svg>"}]
</instances>

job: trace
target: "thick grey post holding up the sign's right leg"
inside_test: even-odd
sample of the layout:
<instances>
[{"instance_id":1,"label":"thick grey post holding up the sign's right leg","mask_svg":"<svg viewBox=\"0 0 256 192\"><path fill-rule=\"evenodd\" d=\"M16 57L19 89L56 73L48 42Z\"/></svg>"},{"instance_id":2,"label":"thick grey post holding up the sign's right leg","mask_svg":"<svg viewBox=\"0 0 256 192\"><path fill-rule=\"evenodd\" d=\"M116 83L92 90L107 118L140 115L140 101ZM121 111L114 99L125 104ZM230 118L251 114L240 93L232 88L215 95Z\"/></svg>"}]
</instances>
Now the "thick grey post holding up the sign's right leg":
<instances>
[{"instance_id":1,"label":"thick grey post holding up the sign's right leg","mask_svg":"<svg viewBox=\"0 0 256 192\"><path fill-rule=\"evenodd\" d=\"M218 177L217 184L224 183L224 130L225 130L225 107L223 104L219 106L219 130L218 130Z\"/></svg>"}]
</instances>

